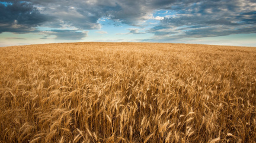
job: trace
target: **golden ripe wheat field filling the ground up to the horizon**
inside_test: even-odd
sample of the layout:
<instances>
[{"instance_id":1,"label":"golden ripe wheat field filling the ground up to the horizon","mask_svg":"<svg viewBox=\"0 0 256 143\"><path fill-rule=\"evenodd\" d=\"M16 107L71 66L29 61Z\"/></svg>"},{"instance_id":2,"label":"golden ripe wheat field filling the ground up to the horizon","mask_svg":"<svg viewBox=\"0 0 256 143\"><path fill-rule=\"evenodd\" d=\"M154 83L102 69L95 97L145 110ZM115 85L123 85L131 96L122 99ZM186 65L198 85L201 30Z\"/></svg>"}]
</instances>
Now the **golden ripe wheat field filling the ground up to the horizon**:
<instances>
[{"instance_id":1,"label":"golden ripe wheat field filling the ground up to the horizon","mask_svg":"<svg viewBox=\"0 0 256 143\"><path fill-rule=\"evenodd\" d=\"M256 47L0 48L0 142L255 142Z\"/></svg>"}]
</instances>

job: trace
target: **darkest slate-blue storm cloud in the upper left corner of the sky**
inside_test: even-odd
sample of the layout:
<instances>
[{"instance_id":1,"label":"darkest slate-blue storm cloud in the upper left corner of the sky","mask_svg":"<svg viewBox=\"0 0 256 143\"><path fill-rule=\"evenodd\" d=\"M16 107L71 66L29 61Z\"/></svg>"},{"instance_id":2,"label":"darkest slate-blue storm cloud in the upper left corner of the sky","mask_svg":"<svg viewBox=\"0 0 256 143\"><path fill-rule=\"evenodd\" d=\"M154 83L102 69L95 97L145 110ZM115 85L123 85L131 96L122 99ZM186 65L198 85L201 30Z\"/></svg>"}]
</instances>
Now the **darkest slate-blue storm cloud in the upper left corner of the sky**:
<instances>
[{"instance_id":1,"label":"darkest slate-blue storm cloud in the upper left corner of the sky","mask_svg":"<svg viewBox=\"0 0 256 143\"><path fill-rule=\"evenodd\" d=\"M35 27L52 20L28 2L0 3L0 13L0 33L34 31Z\"/></svg>"}]
</instances>

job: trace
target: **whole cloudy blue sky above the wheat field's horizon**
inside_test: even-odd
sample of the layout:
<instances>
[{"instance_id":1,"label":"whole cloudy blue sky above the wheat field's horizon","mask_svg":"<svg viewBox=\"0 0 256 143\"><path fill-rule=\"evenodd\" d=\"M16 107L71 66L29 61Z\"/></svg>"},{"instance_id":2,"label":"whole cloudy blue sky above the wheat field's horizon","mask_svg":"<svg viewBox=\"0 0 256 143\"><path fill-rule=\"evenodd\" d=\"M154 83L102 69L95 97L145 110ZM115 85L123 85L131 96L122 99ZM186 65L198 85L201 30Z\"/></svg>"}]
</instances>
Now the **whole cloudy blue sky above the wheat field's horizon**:
<instances>
[{"instance_id":1,"label":"whole cloudy blue sky above the wheat field's horizon","mask_svg":"<svg viewBox=\"0 0 256 143\"><path fill-rule=\"evenodd\" d=\"M256 1L0 0L0 47L87 41L256 47Z\"/></svg>"}]
</instances>

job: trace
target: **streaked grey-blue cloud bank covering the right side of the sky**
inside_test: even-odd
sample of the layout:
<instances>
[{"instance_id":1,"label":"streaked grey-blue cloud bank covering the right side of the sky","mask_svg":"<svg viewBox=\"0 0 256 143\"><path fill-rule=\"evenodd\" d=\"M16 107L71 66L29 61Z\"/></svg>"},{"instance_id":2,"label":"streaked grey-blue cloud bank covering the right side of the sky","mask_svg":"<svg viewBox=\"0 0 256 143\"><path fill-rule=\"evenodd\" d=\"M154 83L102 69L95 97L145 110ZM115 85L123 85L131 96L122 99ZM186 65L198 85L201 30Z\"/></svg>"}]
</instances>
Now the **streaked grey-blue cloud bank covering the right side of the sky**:
<instances>
[{"instance_id":1,"label":"streaked grey-blue cloud bank covering the right side of the sky","mask_svg":"<svg viewBox=\"0 0 256 143\"><path fill-rule=\"evenodd\" d=\"M175 17L165 17L147 32L152 40L216 37L256 33L253 1L199 1L172 6Z\"/></svg>"}]
</instances>

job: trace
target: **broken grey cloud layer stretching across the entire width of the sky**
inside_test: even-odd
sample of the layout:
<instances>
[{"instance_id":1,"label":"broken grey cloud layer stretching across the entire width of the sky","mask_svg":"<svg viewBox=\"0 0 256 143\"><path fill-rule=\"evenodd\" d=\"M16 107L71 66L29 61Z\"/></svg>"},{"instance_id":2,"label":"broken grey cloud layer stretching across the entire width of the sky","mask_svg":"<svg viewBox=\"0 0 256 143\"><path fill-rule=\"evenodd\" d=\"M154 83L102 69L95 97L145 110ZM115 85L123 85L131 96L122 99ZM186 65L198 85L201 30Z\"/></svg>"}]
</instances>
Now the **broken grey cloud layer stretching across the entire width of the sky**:
<instances>
[{"instance_id":1,"label":"broken grey cloud layer stretching across the entire width of the sky","mask_svg":"<svg viewBox=\"0 0 256 143\"><path fill-rule=\"evenodd\" d=\"M171 15L153 16L161 10ZM100 30L99 19L104 17L137 27L126 34L148 32L159 41L256 33L254 0L0 0L0 13L0 33L49 27L56 29L49 30L50 35L63 40L79 40L87 37L87 30ZM150 20L159 22L145 22ZM151 28L139 31L145 27Z\"/></svg>"}]
</instances>

